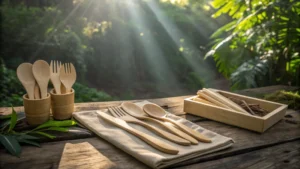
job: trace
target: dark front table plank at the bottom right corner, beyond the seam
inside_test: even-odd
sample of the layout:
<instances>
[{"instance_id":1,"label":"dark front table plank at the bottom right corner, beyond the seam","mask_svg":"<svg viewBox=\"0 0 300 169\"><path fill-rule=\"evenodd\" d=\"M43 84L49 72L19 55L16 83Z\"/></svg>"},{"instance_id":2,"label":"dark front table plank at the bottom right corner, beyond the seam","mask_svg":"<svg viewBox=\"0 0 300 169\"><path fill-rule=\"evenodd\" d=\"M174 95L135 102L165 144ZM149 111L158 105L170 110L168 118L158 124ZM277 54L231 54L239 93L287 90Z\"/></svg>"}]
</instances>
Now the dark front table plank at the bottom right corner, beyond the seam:
<instances>
[{"instance_id":1,"label":"dark front table plank at the bottom right corner, beyond the seam","mask_svg":"<svg viewBox=\"0 0 300 169\"><path fill-rule=\"evenodd\" d=\"M299 166L300 141L298 140L219 160L179 167L178 169L299 169Z\"/></svg>"}]
</instances>

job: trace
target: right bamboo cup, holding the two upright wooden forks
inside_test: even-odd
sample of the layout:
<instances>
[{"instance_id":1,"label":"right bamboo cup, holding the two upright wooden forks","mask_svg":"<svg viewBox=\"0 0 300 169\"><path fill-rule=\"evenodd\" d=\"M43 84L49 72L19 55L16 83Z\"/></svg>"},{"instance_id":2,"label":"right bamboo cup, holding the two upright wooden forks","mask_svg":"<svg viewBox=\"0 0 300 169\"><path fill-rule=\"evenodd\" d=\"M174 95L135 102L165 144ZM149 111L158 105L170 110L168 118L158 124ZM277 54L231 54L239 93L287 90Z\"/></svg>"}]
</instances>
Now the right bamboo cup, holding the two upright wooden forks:
<instances>
[{"instance_id":1,"label":"right bamboo cup, holding the two upright wooden forks","mask_svg":"<svg viewBox=\"0 0 300 169\"><path fill-rule=\"evenodd\" d=\"M56 94L55 89L52 89L50 94L53 118L56 120L70 119L74 112L74 89L66 94Z\"/></svg>"}]
</instances>

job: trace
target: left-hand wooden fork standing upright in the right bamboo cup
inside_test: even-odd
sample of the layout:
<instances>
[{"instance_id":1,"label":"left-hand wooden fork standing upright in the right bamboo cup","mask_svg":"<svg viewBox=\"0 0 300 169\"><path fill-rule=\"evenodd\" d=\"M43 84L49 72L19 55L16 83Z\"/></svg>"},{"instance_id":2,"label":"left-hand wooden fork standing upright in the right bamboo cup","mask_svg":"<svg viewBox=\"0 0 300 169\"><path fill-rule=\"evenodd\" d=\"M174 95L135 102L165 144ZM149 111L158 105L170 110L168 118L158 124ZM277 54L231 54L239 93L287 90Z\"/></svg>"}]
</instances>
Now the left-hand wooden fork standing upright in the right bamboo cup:
<instances>
[{"instance_id":1,"label":"left-hand wooden fork standing upright in the right bamboo cup","mask_svg":"<svg viewBox=\"0 0 300 169\"><path fill-rule=\"evenodd\" d=\"M50 62L50 79L54 86L55 93L61 94L60 90L60 68L61 68L61 62L58 63L58 61L52 61Z\"/></svg>"}]
</instances>

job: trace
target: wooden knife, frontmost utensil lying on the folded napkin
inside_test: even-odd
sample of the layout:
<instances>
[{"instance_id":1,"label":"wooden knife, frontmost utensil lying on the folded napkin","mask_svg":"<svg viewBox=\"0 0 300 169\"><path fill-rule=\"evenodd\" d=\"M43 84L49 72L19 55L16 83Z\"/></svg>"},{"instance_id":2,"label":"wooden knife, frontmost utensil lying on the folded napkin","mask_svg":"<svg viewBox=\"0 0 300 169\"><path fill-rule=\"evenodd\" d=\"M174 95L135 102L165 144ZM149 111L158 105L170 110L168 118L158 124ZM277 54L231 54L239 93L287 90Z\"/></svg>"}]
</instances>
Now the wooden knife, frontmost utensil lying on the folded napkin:
<instances>
[{"instance_id":1,"label":"wooden knife, frontmost utensil lying on the folded napkin","mask_svg":"<svg viewBox=\"0 0 300 169\"><path fill-rule=\"evenodd\" d=\"M130 127L123 120L122 121L126 125L124 125L123 123L117 122L114 117L111 117L111 116L106 115L104 113L99 114L99 116L101 116L106 121L116 125L117 127L122 128L122 129L126 130L127 132L135 135L136 137L142 139L143 141L145 141L146 143L148 143L149 145L151 145L152 147L156 148L159 151L162 151L162 152L167 153L167 154L178 154L178 152L179 152L179 150L176 149L175 147L173 147L169 144L166 144L165 142L163 142L163 141L161 141L157 138L154 138L154 137L152 137L148 134L145 134L143 132L140 132L140 131Z\"/></svg>"}]
</instances>

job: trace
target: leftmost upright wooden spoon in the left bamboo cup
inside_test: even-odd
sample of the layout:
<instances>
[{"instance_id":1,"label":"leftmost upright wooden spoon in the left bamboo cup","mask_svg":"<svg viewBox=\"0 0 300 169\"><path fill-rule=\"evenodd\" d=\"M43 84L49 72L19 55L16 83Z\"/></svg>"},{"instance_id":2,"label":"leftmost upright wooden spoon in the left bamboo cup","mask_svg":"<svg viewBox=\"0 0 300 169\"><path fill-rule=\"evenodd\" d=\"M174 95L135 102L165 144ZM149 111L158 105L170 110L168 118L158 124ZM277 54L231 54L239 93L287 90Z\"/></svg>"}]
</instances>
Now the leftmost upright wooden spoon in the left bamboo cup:
<instances>
[{"instance_id":1,"label":"leftmost upright wooden spoon in the left bamboo cup","mask_svg":"<svg viewBox=\"0 0 300 169\"><path fill-rule=\"evenodd\" d=\"M22 85L24 86L29 99L34 99L34 86L35 79L32 74L32 64L22 63L17 68L17 76Z\"/></svg>"}]
</instances>

